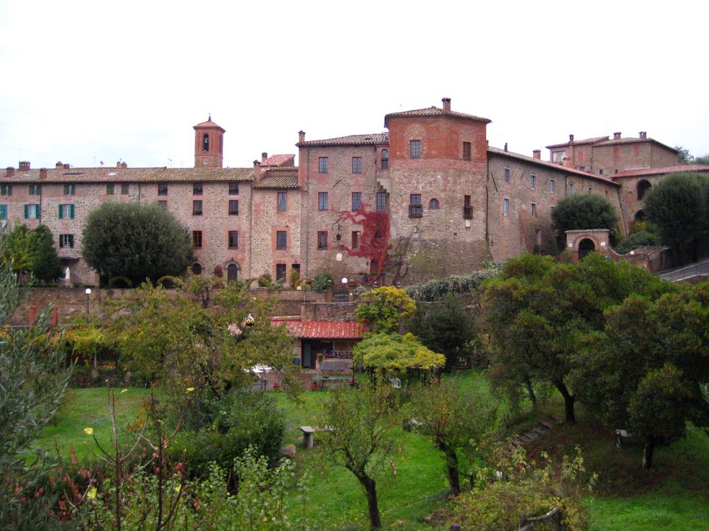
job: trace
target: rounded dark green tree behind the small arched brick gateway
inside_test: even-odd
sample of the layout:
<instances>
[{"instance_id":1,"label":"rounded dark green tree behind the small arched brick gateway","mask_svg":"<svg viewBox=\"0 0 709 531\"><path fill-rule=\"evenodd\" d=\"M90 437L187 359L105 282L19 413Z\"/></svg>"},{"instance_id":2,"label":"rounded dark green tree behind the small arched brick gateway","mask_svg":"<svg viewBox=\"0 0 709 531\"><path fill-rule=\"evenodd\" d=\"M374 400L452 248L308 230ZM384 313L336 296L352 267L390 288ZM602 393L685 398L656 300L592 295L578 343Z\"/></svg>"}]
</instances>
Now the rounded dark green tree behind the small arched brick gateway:
<instances>
[{"instance_id":1,"label":"rounded dark green tree behind the small arched brick gateway","mask_svg":"<svg viewBox=\"0 0 709 531\"><path fill-rule=\"evenodd\" d=\"M552 222L559 238L575 229L609 229L615 237L618 213L603 195L576 193L559 201L552 210Z\"/></svg>"}]
</instances>

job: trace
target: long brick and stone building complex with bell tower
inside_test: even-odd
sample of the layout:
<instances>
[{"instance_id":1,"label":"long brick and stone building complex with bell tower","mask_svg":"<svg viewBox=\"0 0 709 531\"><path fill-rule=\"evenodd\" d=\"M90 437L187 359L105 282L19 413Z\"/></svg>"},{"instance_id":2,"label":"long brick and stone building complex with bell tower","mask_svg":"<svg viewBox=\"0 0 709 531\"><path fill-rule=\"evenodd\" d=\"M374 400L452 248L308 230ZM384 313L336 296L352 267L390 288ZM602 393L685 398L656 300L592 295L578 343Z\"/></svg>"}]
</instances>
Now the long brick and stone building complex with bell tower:
<instances>
[{"instance_id":1,"label":"long brick and stone building complex with bell tower","mask_svg":"<svg viewBox=\"0 0 709 531\"><path fill-rule=\"evenodd\" d=\"M573 193L598 193L627 231L644 193L678 166L675 149L647 138L552 144L549 161L489 147L487 118L442 107L391 113L386 132L306 140L295 154L263 153L223 168L225 130L194 126L194 168L30 169L0 175L0 218L47 225L73 282L95 284L81 258L86 215L102 202L159 202L191 233L193 273L229 279L330 273L412 284L467 273L523 252L557 253L551 212ZM609 227L589 227L608 229Z\"/></svg>"}]
</instances>

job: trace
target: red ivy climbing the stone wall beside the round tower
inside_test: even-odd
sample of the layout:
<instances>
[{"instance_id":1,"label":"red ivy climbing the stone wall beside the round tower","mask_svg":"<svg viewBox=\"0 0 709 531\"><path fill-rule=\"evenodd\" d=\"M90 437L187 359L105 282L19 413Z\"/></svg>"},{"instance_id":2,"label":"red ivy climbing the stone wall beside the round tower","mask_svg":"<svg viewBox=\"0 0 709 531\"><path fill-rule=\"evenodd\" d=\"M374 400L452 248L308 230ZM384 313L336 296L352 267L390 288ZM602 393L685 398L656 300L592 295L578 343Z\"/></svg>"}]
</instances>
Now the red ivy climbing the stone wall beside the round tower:
<instances>
[{"instance_id":1,"label":"red ivy climbing the stone wall beside the round tower","mask_svg":"<svg viewBox=\"0 0 709 531\"><path fill-rule=\"evenodd\" d=\"M359 249L350 249L342 245L342 249L350 256L360 256L369 260L369 281L379 280L381 272L384 270L391 243L389 238L390 219L389 212L376 210L374 212L366 209L362 203L362 210L357 212L340 212L338 222L350 220L352 223L362 225L362 234L359 237Z\"/></svg>"}]
</instances>

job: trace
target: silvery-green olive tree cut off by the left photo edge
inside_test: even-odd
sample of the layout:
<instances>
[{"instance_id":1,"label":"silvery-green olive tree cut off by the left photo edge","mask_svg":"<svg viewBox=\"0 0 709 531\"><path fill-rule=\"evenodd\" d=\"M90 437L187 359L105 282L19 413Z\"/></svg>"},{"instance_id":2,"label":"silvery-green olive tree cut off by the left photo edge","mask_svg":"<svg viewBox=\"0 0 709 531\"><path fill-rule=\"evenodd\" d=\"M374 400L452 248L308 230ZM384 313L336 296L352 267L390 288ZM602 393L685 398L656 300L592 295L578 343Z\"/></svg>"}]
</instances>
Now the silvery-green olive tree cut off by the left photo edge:
<instances>
[{"instance_id":1,"label":"silvery-green olive tree cut off by the left photo edge","mask_svg":"<svg viewBox=\"0 0 709 531\"><path fill-rule=\"evenodd\" d=\"M0 242L0 246L2 242ZM0 327L24 297L11 262L0 263ZM31 445L54 417L70 370L48 335L48 312L28 330L5 330L0 337L0 527L39 529L47 503L35 499L46 479L48 456Z\"/></svg>"}]
</instances>

